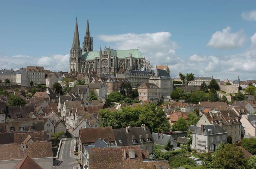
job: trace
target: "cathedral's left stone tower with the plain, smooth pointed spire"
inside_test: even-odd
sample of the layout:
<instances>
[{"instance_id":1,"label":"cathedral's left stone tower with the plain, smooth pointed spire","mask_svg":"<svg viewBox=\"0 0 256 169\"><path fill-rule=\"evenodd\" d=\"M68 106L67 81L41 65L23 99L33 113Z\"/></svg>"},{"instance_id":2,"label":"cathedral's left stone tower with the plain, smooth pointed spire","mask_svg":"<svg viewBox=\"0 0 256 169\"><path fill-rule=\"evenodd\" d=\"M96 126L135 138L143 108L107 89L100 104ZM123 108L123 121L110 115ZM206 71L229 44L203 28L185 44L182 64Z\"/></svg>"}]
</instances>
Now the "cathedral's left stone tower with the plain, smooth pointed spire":
<instances>
[{"instance_id":1,"label":"cathedral's left stone tower with the plain, smooth pointed spire","mask_svg":"<svg viewBox=\"0 0 256 169\"><path fill-rule=\"evenodd\" d=\"M69 73L72 71L80 71L82 62L82 49L80 46L78 26L77 26L77 18L74 32L73 44L70 49L69 55Z\"/></svg>"}]
</instances>

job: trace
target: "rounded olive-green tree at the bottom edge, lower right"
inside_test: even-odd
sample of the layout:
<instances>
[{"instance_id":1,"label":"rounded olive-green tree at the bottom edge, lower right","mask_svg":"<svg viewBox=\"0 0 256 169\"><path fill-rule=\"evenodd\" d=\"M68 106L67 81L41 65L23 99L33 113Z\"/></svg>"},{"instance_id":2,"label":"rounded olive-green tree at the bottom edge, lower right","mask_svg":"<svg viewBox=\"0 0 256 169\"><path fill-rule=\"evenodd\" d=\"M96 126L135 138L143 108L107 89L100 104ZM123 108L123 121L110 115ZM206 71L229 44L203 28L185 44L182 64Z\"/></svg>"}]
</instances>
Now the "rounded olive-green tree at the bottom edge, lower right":
<instances>
[{"instance_id":1,"label":"rounded olive-green tree at the bottom edge, lower right","mask_svg":"<svg viewBox=\"0 0 256 169\"><path fill-rule=\"evenodd\" d=\"M212 164L214 169L245 169L246 159L235 144L220 144L213 153Z\"/></svg>"}]
</instances>

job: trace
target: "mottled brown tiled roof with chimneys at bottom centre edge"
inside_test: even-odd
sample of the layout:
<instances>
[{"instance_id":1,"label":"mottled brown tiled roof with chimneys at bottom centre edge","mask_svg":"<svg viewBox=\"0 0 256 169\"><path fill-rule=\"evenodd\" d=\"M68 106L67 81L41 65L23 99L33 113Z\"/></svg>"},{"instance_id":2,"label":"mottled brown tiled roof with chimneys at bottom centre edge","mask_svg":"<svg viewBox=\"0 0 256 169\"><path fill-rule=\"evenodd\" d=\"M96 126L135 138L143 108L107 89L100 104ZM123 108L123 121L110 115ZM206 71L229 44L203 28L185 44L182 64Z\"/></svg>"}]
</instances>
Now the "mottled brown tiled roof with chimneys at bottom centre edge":
<instances>
[{"instance_id":1,"label":"mottled brown tiled roof with chimneys at bottom centre edge","mask_svg":"<svg viewBox=\"0 0 256 169\"><path fill-rule=\"evenodd\" d=\"M130 149L135 150L134 159L129 158ZM126 159L124 159L124 150L127 151ZM139 146L92 148L90 169L169 169L168 161L143 161L143 156Z\"/></svg>"}]
</instances>

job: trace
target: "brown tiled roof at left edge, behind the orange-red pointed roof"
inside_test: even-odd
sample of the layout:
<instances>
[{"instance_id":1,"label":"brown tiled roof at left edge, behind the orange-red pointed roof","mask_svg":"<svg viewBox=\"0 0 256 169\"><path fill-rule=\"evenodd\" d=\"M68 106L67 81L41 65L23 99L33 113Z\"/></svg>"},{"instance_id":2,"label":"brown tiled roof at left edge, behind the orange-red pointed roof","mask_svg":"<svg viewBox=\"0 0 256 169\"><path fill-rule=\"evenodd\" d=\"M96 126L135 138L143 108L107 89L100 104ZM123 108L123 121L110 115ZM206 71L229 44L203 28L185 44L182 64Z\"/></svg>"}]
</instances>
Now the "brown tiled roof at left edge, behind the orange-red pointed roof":
<instances>
[{"instance_id":1,"label":"brown tiled roof at left edge, behind the orange-red pointed roof","mask_svg":"<svg viewBox=\"0 0 256 169\"><path fill-rule=\"evenodd\" d=\"M53 157L52 143L47 141L27 143L26 149L21 148L21 143L0 144L0 150L0 160L23 159L27 155L31 158Z\"/></svg>"}]
</instances>

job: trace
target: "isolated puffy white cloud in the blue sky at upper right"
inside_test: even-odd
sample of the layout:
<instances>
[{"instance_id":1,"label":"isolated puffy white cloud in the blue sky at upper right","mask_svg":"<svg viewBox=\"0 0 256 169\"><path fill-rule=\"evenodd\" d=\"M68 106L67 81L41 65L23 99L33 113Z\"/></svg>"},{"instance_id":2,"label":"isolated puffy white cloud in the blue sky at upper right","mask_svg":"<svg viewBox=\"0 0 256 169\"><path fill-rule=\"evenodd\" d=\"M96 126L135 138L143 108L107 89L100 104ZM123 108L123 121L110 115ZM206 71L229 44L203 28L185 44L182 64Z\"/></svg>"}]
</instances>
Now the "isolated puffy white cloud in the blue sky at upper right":
<instances>
[{"instance_id":1,"label":"isolated puffy white cloud in the blue sky at upper right","mask_svg":"<svg viewBox=\"0 0 256 169\"><path fill-rule=\"evenodd\" d=\"M222 31L215 32L206 46L215 49L234 49L242 47L246 41L243 30L235 33L231 33L230 30L231 27L228 26Z\"/></svg>"}]
</instances>

